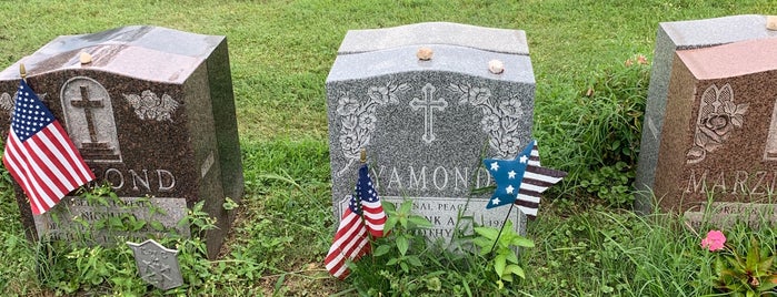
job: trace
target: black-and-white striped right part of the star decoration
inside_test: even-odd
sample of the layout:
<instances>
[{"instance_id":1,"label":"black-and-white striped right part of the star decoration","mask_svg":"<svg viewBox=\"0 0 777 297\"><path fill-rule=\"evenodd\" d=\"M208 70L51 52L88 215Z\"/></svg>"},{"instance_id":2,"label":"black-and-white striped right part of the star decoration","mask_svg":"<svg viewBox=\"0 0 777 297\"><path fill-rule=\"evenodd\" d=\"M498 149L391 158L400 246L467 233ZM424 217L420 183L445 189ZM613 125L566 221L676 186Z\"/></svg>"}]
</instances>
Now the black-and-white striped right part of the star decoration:
<instances>
[{"instance_id":1,"label":"black-and-white striped right part of the star decoration","mask_svg":"<svg viewBox=\"0 0 777 297\"><path fill-rule=\"evenodd\" d=\"M539 165L539 148L537 141L531 142L531 153L528 157L529 164L526 166L524 180L520 182L520 190L516 198L516 206L529 218L537 217L540 194L551 185L558 183L567 176L566 172L541 167Z\"/></svg>"}]
</instances>

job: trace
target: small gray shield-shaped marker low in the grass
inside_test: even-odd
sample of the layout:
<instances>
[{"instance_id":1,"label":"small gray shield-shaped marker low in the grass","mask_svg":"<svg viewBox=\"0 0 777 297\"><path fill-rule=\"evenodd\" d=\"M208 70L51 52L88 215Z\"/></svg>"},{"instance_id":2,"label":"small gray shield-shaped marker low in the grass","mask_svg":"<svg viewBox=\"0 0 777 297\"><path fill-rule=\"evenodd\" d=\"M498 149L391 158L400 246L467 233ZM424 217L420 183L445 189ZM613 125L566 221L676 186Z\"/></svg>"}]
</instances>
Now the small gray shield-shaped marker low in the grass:
<instances>
[{"instance_id":1,"label":"small gray shield-shaped marker low in the grass","mask_svg":"<svg viewBox=\"0 0 777 297\"><path fill-rule=\"evenodd\" d=\"M178 250L169 249L148 239L142 244L127 242L132 249L140 278L160 289L171 289L183 285Z\"/></svg>"}]
</instances>

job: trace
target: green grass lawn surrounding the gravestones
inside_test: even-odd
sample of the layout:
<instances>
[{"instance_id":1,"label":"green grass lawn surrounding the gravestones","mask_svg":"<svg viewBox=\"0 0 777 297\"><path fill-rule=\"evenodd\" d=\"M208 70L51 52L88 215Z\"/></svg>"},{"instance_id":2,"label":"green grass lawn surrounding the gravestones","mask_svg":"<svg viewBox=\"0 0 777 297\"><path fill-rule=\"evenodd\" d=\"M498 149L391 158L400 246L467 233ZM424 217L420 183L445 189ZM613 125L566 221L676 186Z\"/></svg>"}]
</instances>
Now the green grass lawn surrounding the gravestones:
<instances>
[{"instance_id":1,"label":"green grass lawn surrounding the gravestones","mask_svg":"<svg viewBox=\"0 0 777 297\"><path fill-rule=\"evenodd\" d=\"M472 267L434 264L409 274L411 279L387 278L408 284L437 278L450 285L447 295L456 286L466 294L471 285L476 296L698 296L713 294L714 260L698 247L699 237L671 215L629 212L649 65L624 62L638 54L653 60L659 22L777 14L777 2L59 0L2 1L0 11L2 69L58 35L122 25L227 35L246 196L223 257L195 259L188 273L197 281L188 279L178 294L356 295L355 287L370 286L360 278L335 280L322 267L336 225L325 81L348 30L448 21L526 31L537 81L534 133L542 142L544 162L570 175L546 196L540 218L529 224L536 247L521 253L526 279L508 283L509 294L478 280L486 272ZM135 273L127 250L57 255L27 243L8 178L1 186L3 295L138 289L127 280ZM773 229L729 232L741 248L753 235L773 253L777 249ZM102 263L112 268L96 273ZM128 278L117 277L121 274ZM140 288L143 295L162 294ZM416 293L436 295L430 288Z\"/></svg>"}]
</instances>

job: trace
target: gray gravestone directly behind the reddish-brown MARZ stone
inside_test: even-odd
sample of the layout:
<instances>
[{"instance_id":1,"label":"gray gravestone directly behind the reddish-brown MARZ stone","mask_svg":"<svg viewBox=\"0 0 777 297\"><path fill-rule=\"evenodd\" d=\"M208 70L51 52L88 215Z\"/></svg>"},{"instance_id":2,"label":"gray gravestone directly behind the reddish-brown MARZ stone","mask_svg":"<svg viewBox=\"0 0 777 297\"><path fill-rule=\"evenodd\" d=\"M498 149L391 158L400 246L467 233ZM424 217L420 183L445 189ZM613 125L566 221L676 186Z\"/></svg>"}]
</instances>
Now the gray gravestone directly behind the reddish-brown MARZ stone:
<instances>
[{"instance_id":1,"label":"gray gravestone directly behind the reddish-brown MARZ stone","mask_svg":"<svg viewBox=\"0 0 777 297\"><path fill-rule=\"evenodd\" d=\"M659 147L664 137L663 129L670 74L676 59L675 52L775 37L777 32L766 29L766 17L756 14L663 22L658 25L635 182L637 211L650 213L655 206L654 197L660 198L664 195L655 193L654 186L656 177L661 174L656 167L661 153Z\"/></svg>"}]
</instances>

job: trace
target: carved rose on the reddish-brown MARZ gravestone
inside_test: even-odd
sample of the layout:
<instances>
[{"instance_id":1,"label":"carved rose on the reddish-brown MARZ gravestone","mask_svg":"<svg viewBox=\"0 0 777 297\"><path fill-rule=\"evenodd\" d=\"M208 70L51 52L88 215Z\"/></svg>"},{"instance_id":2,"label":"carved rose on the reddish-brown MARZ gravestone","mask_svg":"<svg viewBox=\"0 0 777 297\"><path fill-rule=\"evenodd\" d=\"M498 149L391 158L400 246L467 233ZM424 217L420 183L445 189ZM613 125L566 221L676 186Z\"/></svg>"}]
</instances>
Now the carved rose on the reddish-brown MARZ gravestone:
<instances>
[{"instance_id":1,"label":"carved rose on the reddish-brown MARZ gravestone","mask_svg":"<svg viewBox=\"0 0 777 297\"><path fill-rule=\"evenodd\" d=\"M730 84L720 89L715 84L707 88L701 94L694 146L688 150L686 162L699 163L708 152L723 146L730 132L744 124L748 106L748 103L734 103L734 90Z\"/></svg>"}]
</instances>

